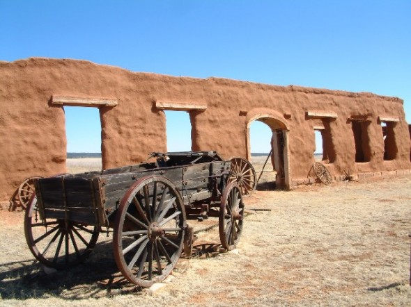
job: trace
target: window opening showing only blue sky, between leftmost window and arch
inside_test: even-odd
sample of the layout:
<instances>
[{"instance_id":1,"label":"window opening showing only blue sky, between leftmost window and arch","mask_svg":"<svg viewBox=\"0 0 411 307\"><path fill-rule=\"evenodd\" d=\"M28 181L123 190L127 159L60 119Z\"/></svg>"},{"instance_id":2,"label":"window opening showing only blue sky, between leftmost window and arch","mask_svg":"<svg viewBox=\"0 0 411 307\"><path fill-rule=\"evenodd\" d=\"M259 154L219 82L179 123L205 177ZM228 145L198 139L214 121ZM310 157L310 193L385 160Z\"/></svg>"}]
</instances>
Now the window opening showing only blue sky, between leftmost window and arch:
<instances>
[{"instance_id":1,"label":"window opening showing only blue sky, between leftmost window and arch","mask_svg":"<svg viewBox=\"0 0 411 307\"><path fill-rule=\"evenodd\" d=\"M167 151L192 150L192 124L187 111L164 110Z\"/></svg>"}]
</instances>

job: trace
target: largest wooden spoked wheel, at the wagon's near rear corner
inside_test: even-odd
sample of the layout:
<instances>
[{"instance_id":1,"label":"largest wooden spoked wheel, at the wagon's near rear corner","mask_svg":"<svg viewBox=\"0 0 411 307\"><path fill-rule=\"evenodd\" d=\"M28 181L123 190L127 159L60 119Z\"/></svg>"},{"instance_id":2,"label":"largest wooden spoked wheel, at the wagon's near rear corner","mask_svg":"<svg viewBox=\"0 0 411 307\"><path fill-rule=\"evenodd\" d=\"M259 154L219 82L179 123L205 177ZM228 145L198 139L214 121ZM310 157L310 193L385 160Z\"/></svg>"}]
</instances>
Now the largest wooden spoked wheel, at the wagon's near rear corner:
<instances>
[{"instance_id":1,"label":"largest wooden spoked wheel, at the wagon's near rear corner","mask_svg":"<svg viewBox=\"0 0 411 307\"><path fill-rule=\"evenodd\" d=\"M125 193L114 224L114 257L141 287L163 281L180 258L186 219L176 185L163 176L139 179Z\"/></svg>"}]
</instances>

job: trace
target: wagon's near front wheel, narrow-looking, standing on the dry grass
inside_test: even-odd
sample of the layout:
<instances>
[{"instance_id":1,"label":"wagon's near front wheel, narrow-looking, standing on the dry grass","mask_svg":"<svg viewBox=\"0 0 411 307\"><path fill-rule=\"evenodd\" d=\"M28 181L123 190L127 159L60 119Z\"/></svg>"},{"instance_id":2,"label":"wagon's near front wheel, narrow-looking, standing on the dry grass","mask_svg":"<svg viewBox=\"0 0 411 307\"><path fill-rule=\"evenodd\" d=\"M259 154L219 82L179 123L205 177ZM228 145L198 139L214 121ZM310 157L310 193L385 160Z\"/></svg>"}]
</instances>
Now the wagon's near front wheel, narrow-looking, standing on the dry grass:
<instances>
[{"instance_id":1,"label":"wagon's near front wheel, narrow-looking, standing on the dry grass","mask_svg":"<svg viewBox=\"0 0 411 307\"><path fill-rule=\"evenodd\" d=\"M237 183L229 183L223 192L219 210L219 238L225 249L235 249L242 233L244 203Z\"/></svg>"}]
</instances>

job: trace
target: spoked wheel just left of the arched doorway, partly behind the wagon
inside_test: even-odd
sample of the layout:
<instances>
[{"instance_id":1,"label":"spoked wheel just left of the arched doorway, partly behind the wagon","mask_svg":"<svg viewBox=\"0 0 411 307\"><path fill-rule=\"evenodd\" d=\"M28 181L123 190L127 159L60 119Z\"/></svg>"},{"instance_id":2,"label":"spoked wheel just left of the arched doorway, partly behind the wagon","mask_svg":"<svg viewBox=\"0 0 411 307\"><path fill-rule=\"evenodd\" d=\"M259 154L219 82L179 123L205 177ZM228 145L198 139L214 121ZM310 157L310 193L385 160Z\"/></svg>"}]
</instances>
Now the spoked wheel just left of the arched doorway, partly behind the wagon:
<instances>
[{"instance_id":1,"label":"spoked wheel just left of the arched doorway, partly behind the wagon","mask_svg":"<svg viewBox=\"0 0 411 307\"><path fill-rule=\"evenodd\" d=\"M251 194L256 190L256 171L245 158L231 158L231 173L228 182L236 182L240 186L243 195Z\"/></svg>"}]
</instances>

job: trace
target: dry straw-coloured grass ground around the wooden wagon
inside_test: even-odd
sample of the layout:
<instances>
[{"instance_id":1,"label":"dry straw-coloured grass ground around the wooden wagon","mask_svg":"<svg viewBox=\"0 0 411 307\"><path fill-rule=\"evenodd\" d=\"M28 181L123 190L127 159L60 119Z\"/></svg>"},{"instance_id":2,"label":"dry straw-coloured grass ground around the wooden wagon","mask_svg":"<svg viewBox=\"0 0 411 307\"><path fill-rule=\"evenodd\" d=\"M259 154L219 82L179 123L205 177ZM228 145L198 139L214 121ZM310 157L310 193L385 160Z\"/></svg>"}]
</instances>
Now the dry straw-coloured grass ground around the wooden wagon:
<instances>
[{"instance_id":1,"label":"dry straw-coloured grass ground around the wooden wagon","mask_svg":"<svg viewBox=\"0 0 411 307\"><path fill-rule=\"evenodd\" d=\"M111 233L83 265L46 274L24 213L0 210L0 306L411 306L411 176L258 190L245 204L237 250L201 252L219 242L201 231L217 219L194 223L196 256L154 293L123 281Z\"/></svg>"}]
</instances>

